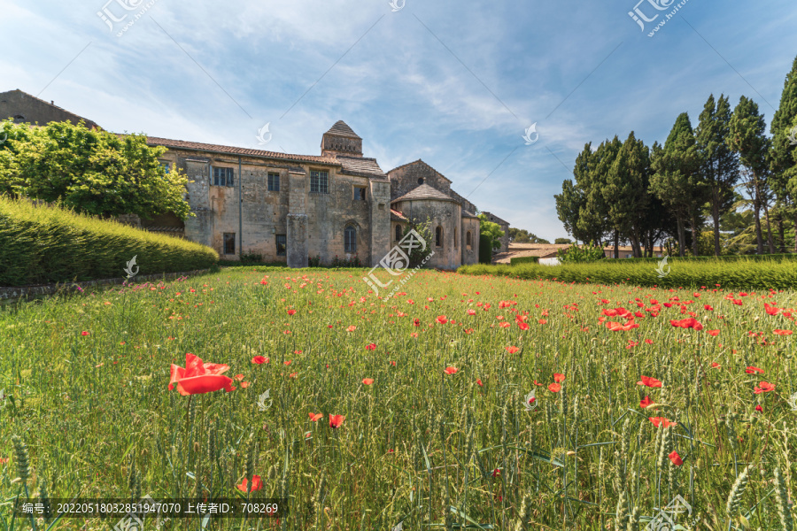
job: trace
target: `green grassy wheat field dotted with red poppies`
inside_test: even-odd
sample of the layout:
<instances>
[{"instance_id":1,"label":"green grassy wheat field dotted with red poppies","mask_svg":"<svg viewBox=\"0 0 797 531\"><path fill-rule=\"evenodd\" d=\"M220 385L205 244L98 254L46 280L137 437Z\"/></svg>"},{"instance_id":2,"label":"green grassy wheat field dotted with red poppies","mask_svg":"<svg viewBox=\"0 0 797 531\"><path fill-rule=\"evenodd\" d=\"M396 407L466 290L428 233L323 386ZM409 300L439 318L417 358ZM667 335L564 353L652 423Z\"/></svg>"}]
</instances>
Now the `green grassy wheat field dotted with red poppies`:
<instances>
[{"instance_id":1,"label":"green grassy wheat field dotted with red poppies","mask_svg":"<svg viewBox=\"0 0 797 531\"><path fill-rule=\"evenodd\" d=\"M793 529L794 291L422 271L383 302L363 274L225 269L0 312L0 531L43 483L235 497L253 475L287 516L206 528L672 529L680 495L684 528ZM169 390L186 353L230 390Z\"/></svg>"}]
</instances>

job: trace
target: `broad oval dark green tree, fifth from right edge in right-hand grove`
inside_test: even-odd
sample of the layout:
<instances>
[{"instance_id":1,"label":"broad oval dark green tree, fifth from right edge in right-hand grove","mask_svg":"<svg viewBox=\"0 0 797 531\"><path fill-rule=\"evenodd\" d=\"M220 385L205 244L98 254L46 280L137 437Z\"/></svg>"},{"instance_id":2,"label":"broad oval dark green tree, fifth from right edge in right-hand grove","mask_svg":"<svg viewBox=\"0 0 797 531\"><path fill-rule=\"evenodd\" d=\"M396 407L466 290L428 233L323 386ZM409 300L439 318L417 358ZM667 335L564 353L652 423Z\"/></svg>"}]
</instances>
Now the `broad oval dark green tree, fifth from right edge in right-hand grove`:
<instances>
[{"instance_id":1,"label":"broad oval dark green tree, fifth from right edge in right-hand grove","mask_svg":"<svg viewBox=\"0 0 797 531\"><path fill-rule=\"evenodd\" d=\"M640 258L646 210L650 204L650 152L633 131L623 142L607 173L603 200L616 233L631 240L634 257Z\"/></svg>"}]
</instances>

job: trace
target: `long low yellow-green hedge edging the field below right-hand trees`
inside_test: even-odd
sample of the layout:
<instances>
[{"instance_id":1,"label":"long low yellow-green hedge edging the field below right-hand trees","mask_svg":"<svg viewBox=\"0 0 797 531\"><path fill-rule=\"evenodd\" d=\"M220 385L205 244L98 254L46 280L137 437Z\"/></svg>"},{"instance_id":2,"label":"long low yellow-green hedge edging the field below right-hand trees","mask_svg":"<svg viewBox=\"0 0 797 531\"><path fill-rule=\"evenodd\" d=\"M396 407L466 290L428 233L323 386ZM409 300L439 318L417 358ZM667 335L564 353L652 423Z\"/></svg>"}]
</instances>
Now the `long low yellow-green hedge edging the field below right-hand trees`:
<instances>
[{"instance_id":1,"label":"long low yellow-green hedge edging the field below right-hand trees","mask_svg":"<svg viewBox=\"0 0 797 531\"><path fill-rule=\"evenodd\" d=\"M507 276L524 280L628 284L659 288L700 289L705 286L713 289L717 284L723 289L741 290L797 288L797 262L791 260L684 261L665 267L664 272L667 274L660 277L654 264L631 260L600 260L590 264L561 266L476 265L461 266L457 270L457 273L462 274Z\"/></svg>"}]
</instances>

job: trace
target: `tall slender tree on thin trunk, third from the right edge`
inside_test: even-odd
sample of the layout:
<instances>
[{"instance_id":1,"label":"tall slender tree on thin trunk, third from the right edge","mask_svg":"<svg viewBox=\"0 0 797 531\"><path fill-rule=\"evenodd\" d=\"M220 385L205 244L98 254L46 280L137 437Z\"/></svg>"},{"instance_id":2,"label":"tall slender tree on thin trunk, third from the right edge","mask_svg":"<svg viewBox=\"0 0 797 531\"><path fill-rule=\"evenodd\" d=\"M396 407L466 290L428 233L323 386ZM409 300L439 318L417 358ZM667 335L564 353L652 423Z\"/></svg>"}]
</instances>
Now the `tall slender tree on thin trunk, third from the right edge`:
<instances>
[{"instance_id":1,"label":"tall slender tree on thin trunk, third from the right edge","mask_svg":"<svg viewBox=\"0 0 797 531\"><path fill-rule=\"evenodd\" d=\"M714 95L700 112L695 142L700 153L700 173L708 186L708 203L714 220L714 254L720 255L720 216L733 203L733 189L739 181L739 158L725 139L731 123L731 104L727 96Z\"/></svg>"}]
</instances>

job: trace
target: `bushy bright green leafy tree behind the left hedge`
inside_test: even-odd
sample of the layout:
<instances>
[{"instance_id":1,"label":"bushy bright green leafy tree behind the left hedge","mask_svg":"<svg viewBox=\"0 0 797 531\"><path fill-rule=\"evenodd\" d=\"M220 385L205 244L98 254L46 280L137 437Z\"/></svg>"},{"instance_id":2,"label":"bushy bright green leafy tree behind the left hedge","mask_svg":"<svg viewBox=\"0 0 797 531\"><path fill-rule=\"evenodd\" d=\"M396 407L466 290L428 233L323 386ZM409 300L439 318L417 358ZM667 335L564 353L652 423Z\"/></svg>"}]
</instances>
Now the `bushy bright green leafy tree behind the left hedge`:
<instances>
[{"instance_id":1,"label":"bushy bright green leafy tree behind the left hedge","mask_svg":"<svg viewBox=\"0 0 797 531\"><path fill-rule=\"evenodd\" d=\"M149 147L145 135L120 137L82 122L2 126L8 139L0 144L0 194L61 201L104 218L193 215L184 199L188 178L179 170L166 172L158 160L166 148Z\"/></svg>"}]
</instances>

